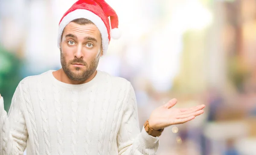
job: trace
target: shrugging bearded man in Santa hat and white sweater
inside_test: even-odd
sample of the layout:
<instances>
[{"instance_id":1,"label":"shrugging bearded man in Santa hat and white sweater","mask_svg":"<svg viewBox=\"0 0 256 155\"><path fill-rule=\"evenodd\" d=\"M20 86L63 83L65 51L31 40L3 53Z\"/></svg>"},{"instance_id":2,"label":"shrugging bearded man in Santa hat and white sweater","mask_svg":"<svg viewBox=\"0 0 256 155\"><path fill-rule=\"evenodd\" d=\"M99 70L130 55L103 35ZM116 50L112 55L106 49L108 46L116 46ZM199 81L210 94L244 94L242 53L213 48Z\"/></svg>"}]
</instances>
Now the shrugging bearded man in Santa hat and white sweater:
<instances>
[{"instance_id":1,"label":"shrugging bearded man in Santa hat and white sweater","mask_svg":"<svg viewBox=\"0 0 256 155\"><path fill-rule=\"evenodd\" d=\"M111 29L109 19L111 20ZM0 99L3 155L154 155L163 129L201 115L204 105L155 109L140 132L131 83L96 70L118 38L118 18L104 0L79 0L59 23L62 68L23 79L8 113Z\"/></svg>"}]
</instances>

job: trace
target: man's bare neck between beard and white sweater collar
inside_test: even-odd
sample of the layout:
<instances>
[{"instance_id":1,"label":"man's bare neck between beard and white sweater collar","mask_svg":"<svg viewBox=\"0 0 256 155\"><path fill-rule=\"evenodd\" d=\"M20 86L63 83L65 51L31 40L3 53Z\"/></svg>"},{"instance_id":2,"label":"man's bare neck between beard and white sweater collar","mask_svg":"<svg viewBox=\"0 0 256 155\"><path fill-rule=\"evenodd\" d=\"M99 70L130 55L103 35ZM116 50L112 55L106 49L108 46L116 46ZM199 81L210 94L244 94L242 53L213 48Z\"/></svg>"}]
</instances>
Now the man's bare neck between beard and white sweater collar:
<instances>
[{"instance_id":1,"label":"man's bare neck between beard and white sweater collar","mask_svg":"<svg viewBox=\"0 0 256 155\"><path fill-rule=\"evenodd\" d=\"M55 72L52 72L53 76L63 82L63 83L67 83L67 84L83 84L83 83L87 83L89 82L90 80L93 80L93 78L96 76L97 74L97 70L93 72L92 75L90 75L89 78L87 78L86 80L83 80L83 81L74 81L74 80L71 80L70 78L67 77L66 73L63 71L63 69L59 69Z\"/></svg>"}]
</instances>

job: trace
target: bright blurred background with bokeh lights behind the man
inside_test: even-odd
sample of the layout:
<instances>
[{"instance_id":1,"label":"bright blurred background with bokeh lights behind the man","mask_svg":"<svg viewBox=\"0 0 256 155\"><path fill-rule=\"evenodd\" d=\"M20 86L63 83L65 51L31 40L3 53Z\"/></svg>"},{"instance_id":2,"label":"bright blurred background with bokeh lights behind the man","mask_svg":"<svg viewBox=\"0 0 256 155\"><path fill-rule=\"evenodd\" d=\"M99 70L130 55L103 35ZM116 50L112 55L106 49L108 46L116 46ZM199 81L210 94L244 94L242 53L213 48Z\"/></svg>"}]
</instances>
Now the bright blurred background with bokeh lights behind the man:
<instances>
[{"instance_id":1,"label":"bright blurred background with bokeh lights behind the man","mask_svg":"<svg viewBox=\"0 0 256 155\"><path fill-rule=\"evenodd\" d=\"M76 0L0 0L0 93L60 69L58 22ZM256 0L106 0L122 37L99 70L131 81L140 126L152 110L206 104L165 129L157 155L256 155Z\"/></svg>"}]
</instances>

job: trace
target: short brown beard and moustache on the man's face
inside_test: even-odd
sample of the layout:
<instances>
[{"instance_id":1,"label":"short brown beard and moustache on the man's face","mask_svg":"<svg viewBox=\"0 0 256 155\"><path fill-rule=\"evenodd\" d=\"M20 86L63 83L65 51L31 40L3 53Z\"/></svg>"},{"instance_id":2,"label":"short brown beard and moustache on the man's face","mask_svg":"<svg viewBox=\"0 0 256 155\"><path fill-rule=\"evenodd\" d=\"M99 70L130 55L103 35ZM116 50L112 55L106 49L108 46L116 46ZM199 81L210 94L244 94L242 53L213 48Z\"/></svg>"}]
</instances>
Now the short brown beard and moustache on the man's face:
<instances>
[{"instance_id":1,"label":"short brown beard and moustache on the man's face","mask_svg":"<svg viewBox=\"0 0 256 155\"><path fill-rule=\"evenodd\" d=\"M63 71L70 80L79 82L85 81L96 71L99 64L99 57L100 55L97 56L94 60L92 60L90 65L88 65L84 60L76 58L70 60L69 62L66 62L66 58L61 51L61 66ZM71 71L70 65L73 63L81 63L85 66L86 69L84 70L80 67L76 67L76 71Z\"/></svg>"}]
</instances>

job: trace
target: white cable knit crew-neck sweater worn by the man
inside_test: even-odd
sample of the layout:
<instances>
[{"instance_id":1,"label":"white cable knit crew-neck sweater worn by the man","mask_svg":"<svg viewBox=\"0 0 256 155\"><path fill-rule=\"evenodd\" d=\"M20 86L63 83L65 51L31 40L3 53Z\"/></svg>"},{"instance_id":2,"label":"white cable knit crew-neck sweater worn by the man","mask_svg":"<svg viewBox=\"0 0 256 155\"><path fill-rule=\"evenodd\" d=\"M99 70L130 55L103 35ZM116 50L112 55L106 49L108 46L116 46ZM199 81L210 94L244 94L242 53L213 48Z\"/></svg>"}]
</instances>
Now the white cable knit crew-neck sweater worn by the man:
<instances>
[{"instance_id":1,"label":"white cable knit crew-neck sweater worn by the man","mask_svg":"<svg viewBox=\"0 0 256 155\"><path fill-rule=\"evenodd\" d=\"M158 138L140 132L131 83L98 71L80 85L53 70L23 79L7 115L0 99L0 155L154 155Z\"/></svg>"}]
</instances>

